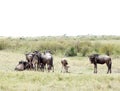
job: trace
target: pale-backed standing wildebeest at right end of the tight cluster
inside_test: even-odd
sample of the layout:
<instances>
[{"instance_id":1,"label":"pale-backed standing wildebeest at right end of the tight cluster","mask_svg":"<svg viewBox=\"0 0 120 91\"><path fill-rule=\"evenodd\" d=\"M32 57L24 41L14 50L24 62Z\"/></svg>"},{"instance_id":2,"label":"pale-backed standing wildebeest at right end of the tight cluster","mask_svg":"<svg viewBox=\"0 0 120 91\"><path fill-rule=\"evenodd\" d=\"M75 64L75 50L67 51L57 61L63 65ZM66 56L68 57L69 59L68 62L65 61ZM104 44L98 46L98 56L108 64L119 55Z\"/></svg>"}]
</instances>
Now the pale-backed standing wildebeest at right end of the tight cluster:
<instances>
[{"instance_id":1,"label":"pale-backed standing wildebeest at right end of the tight cluster","mask_svg":"<svg viewBox=\"0 0 120 91\"><path fill-rule=\"evenodd\" d=\"M43 67L43 71L44 71L44 68L47 65L48 72L51 69L54 72L53 57L52 57L52 54L49 51L46 51L45 53L41 54L41 64L42 64L42 67Z\"/></svg>"}]
</instances>

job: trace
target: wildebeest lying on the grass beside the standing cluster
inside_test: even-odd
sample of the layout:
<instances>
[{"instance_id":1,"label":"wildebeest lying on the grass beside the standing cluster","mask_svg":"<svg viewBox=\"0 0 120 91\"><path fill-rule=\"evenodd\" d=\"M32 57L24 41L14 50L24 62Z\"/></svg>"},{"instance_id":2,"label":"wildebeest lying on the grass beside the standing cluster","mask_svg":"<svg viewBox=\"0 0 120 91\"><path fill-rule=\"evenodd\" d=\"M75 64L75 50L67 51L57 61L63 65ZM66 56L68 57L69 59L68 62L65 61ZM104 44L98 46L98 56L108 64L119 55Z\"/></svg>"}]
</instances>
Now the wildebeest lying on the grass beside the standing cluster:
<instances>
[{"instance_id":1,"label":"wildebeest lying on the grass beside the standing cluster","mask_svg":"<svg viewBox=\"0 0 120 91\"><path fill-rule=\"evenodd\" d=\"M19 64L15 67L15 70L17 71L23 71L25 69L29 69L30 65L26 61L19 61Z\"/></svg>"}]
</instances>

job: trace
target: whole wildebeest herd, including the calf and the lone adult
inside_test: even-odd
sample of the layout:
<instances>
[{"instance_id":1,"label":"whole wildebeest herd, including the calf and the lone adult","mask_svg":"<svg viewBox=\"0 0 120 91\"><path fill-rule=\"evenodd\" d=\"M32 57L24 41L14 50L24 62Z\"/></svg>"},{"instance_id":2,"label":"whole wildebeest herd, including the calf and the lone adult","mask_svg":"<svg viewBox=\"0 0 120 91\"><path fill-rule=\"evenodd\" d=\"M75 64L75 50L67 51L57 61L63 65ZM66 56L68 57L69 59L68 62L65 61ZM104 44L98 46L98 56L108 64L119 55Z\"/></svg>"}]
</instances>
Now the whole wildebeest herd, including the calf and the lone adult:
<instances>
[{"instance_id":1,"label":"whole wildebeest herd, including the calf and the lone adult","mask_svg":"<svg viewBox=\"0 0 120 91\"><path fill-rule=\"evenodd\" d=\"M15 67L17 71L23 70L40 70L44 72L54 72L53 56L50 50L41 53L39 51L33 51L25 54L26 61L19 61ZM112 60L108 55L91 54L88 56L91 64L94 64L94 73L97 73L97 64L105 64L108 67L107 73L111 73ZM68 72L68 61L65 58L61 59L61 72Z\"/></svg>"}]
</instances>

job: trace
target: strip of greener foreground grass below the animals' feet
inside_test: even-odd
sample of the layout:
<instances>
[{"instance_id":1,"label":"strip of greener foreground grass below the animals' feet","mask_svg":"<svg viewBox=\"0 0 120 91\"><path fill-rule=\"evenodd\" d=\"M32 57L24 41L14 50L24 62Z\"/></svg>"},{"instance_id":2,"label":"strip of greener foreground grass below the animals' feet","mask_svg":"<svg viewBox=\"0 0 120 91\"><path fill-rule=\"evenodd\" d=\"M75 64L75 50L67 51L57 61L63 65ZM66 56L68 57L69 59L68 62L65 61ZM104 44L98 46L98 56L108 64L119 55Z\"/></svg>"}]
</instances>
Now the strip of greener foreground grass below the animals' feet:
<instances>
[{"instance_id":1,"label":"strip of greener foreground grass below the animals' feet","mask_svg":"<svg viewBox=\"0 0 120 91\"><path fill-rule=\"evenodd\" d=\"M120 76L42 72L0 72L5 91L119 91Z\"/></svg>"}]
</instances>

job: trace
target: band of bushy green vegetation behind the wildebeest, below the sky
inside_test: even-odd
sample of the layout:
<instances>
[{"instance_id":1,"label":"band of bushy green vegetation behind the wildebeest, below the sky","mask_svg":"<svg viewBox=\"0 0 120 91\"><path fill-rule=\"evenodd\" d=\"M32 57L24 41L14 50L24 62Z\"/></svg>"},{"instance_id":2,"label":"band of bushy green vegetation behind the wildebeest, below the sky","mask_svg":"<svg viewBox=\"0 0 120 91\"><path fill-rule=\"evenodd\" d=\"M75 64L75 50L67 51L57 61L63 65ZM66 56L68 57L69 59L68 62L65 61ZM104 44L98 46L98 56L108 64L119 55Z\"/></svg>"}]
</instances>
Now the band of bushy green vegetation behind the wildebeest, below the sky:
<instances>
[{"instance_id":1,"label":"band of bushy green vegetation behind the wildebeest, below the sky","mask_svg":"<svg viewBox=\"0 0 120 91\"><path fill-rule=\"evenodd\" d=\"M0 50L30 52L51 50L64 56L86 56L90 53L120 54L120 36L56 36L36 38L0 37Z\"/></svg>"}]
</instances>

